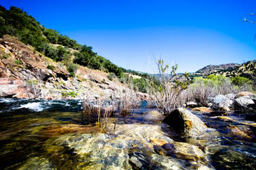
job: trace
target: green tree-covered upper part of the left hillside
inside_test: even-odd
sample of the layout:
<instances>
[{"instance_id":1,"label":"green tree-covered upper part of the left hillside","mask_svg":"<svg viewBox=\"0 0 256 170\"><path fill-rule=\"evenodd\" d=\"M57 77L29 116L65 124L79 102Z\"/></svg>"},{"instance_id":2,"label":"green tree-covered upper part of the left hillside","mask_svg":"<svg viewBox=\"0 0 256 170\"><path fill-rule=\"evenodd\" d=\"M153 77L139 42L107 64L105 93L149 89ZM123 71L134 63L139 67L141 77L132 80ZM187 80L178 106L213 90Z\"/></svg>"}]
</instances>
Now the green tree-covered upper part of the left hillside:
<instances>
[{"instance_id":1,"label":"green tree-covered upper part of the left hillside","mask_svg":"<svg viewBox=\"0 0 256 170\"><path fill-rule=\"evenodd\" d=\"M0 23L0 37L12 35L53 61L61 61L67 66L70 76L74 76L75 66L72 63L122 76L124 69L99 56L91 46L78 44L74 39L60 35L53 29L46 29L18 7L6 10L0 6Z\"/></svg>"}]
</instances>

